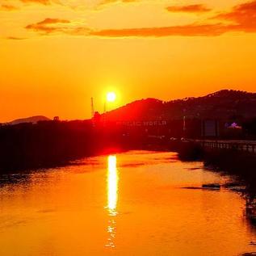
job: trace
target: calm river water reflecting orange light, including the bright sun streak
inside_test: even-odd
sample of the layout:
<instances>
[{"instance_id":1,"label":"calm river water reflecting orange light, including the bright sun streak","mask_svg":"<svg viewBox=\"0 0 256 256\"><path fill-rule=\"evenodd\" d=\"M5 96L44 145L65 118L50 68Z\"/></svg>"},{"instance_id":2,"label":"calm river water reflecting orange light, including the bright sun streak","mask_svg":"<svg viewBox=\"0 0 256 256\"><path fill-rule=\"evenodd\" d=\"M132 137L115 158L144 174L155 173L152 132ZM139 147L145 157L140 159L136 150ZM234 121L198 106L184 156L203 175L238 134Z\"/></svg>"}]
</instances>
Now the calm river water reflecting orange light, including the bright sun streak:
<instances>
[{"instance_id":1,"label":"calm river water reflecting orange light, including the bright sun streak","mask_svg":"<svg viewBox=\"0 0 256 256\"><path fill-rule=\"evenodd\" d=\"M256 251L241 195L187 188L232 178L176 153L130 151L15 177L0 187L3 256Z\"/></svg>"}]
</instances>

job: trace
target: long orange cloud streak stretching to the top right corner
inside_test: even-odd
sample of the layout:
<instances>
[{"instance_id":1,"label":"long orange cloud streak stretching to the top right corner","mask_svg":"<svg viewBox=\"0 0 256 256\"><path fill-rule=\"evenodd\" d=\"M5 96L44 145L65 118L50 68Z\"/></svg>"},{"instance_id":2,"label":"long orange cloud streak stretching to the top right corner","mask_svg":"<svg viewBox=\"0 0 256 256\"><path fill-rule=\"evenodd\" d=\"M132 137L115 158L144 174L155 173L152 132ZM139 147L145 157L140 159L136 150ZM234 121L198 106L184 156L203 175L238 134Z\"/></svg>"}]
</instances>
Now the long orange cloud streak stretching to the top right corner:
<instances>
[{"instance_id":1,"label":"long orange cloud streak stretching to the top right corner","mask_svg":"<svg viewBox=\"0 0 256 256\"><path fill-rule=\"evenodd\" d=\"M48 18L39 23L27 25L26 28L44 34L61 32L75 36L99 36L110 38L220 36L232 31L256 32L256 0L234 6L232 10L220 13L210 19L205 19L202 23L191 23L183 26L94 30L88 27L78 27L78 24L66 19Z\"/></svg>"}]
</instances>

